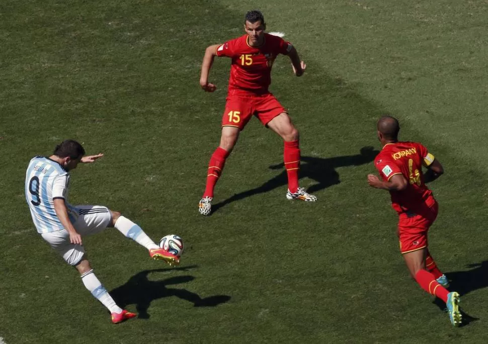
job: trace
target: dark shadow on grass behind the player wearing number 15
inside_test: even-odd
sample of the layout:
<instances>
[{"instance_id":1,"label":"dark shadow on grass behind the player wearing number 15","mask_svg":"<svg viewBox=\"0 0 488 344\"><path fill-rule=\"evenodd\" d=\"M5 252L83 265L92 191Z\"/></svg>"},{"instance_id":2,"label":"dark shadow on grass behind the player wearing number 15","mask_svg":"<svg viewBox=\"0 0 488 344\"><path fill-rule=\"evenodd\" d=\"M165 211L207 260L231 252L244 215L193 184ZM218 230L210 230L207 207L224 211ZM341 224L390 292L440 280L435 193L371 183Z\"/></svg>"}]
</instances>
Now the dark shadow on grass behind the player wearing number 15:
<instances>
[{"instance_id":1,"label":"dark shadow on grass behind the player wearing number 15","mask_svg":"<svg viewBox=\"0 0 488 344\"><path fill-rule=\"evenodd\" d=\"M373 147L368 146L361 148L359 154L355 155L344 155L331 158L302 156L300 159L301 163L299 176L300 179L309 178L316 182L316 184L312 185L307 190L309 193L313 194L314 192L326 189L332 185L340 183L339 174L336 171L337 167L356 166L371 162L378 153L378 150L374 150ZM282 162L276 165L271 165L269 168L279 169L283 168L283 166L284 163ZM286 185L288 185L288 178L286 170L283 169L281 174L270 179L263 185L248 191L235 194L222 202L212 205L212 213L234 201L238 201L243 198L257 194L270 192L275 188L283 187Z\"/></svg>"}]
</instances>

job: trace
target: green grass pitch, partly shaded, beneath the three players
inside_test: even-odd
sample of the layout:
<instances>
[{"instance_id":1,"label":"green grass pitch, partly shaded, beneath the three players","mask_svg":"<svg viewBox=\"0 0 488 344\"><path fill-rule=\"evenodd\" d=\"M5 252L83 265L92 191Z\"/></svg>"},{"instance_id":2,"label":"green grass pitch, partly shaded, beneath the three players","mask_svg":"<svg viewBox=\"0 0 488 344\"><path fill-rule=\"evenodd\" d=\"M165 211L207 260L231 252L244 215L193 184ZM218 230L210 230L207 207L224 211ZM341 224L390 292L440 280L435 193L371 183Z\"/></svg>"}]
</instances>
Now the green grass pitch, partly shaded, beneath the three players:
<instances>
[{"instance_id":1,"label":"green grass pitch, partly shaded, beneath the three players","mask_svg":"<svg viewBox=\"0 0 488 344\"><path fill-rule=\"evenodd\" d=\"M307 63L296 78L279 58L271 91L319 201L286 201L281 139L253 120L205 218L229 60L214 63L214 94L200 63L254 8ZM486 18L484 1L0 2L0 343L488 342ZM385 112L445 167L430 248L462 294L460 328L409 277L388 194L367 185ZM105 153L73 171L70 203L185 239L178 269L116 230L85 239L107 290L143 318L112 325L34 229L25 169L65 138Z\"/></svg>"}]
</instances>

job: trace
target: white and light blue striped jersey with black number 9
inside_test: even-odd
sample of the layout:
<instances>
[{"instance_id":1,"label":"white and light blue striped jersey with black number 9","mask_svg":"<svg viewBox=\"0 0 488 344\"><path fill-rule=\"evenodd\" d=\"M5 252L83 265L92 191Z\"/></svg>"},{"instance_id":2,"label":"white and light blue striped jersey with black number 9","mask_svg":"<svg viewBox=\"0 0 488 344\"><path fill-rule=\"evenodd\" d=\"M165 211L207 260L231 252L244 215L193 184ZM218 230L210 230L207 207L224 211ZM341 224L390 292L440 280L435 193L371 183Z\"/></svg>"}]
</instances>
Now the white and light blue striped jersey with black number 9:
<instances>
[{"instance_id":1,"label":"white and light blue striped jersey with black number 9","mask_svg":"<svg viewBox=\"0 0 488 344\"><path fill-rule=\"evenodd\" d=\"M64 199L68 216L74 222L77 213L68 204L69 173L56 161L36 156L27 167L25 195L32 220L39 233L64 229L54 210L53 200Z\"/></svg>"}]
</instances>

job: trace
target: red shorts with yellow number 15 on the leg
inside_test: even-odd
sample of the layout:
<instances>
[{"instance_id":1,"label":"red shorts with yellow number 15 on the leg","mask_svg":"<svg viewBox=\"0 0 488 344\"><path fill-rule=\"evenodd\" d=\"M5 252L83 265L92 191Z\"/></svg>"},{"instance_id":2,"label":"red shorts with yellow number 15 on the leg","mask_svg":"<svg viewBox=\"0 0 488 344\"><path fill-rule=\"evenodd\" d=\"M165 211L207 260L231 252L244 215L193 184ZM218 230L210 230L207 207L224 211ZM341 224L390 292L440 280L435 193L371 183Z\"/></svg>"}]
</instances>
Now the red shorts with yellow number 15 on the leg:
<instances>
[{"instance_id":1,"label":"red shorts with yellow number 15 on the leg","mask_svg":"<svg viewBox=\"0 0 488 344\"><path fill-rule=\"evenodd\" d=\"M261 96L229 95L222 116L222 127L237 127L242 130L253 115L267 125L282 112L287 111L271 93Z\"/></svg>"}]
</instances>

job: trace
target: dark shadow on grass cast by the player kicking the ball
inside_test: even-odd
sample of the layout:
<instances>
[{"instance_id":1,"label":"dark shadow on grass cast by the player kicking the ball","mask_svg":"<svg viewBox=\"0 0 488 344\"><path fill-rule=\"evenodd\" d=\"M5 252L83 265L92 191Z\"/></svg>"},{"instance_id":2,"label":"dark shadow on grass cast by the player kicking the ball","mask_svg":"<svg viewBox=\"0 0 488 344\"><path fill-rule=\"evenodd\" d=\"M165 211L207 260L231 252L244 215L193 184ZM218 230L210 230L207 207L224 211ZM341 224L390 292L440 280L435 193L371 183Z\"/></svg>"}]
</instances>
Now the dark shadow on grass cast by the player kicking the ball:
<instances>
[{"instance_id":1,"label":"dark shadow on grass cast by the player kicking the ball","mask_svg":"<svg viewBox=\"0 0 488 344\"><path fill-rule=\"evenodd\" d=\"M228 295L214 295L201 298L198 294L186 289L167 288L167 286L193 281L193 276L175 276L159 281L150 281L147 276L152 273L168 271L187 271L196 266L145 270L132 276L127 283L110 291L110 295L122 308L135 304L137 317L148 319L147 309L151 302L162 297L176 296L182 300L193 303L194 307L214 307L230 300Z\"/></svg>"}]
</instances>

